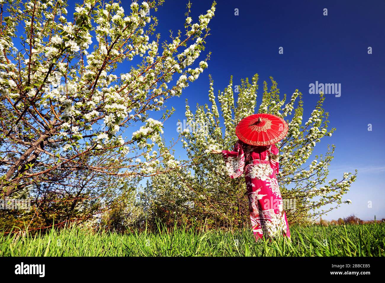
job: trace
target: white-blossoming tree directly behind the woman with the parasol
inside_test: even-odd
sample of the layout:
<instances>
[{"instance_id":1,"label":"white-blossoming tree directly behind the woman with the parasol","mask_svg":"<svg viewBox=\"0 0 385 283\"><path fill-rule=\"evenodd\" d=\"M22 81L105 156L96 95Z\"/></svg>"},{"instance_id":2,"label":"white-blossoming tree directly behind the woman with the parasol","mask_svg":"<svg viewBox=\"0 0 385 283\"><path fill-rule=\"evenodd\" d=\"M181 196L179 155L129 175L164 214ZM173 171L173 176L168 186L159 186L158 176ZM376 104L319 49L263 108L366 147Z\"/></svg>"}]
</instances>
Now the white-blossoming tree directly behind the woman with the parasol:
<instances>
[{"instance_id":1,"label":"white-blossoming tree directly behind the woman with the parasol","mask_svg":"<svg viewBox=\"0 0 385 283\"><path fill-rule=\"evenodd\" d=\"M280 150L280 172L277 176L284 199L284 208L289 221L309 222L325 214L341 203L356 174L344 173L341 180L327 181L328 167L333 159L334 146L328 146L324 155L309 161L313 150L322 138L331 136L334 128L328 130L328 113L322 108L324 95L306 122L303 122L302 94L298 90L290 99L280 97L276 81L271 79L271 88L263 83L261 104L256 107L258 74L249 82L242 80L237 86L237 100L234 101L232 77L229 85L218 92L221 114L214 95L213 80L210 78L210 105L198 106L193 114L186 104L186 119L196 131L181 133L183 146L189 159L194 160L191 168L178 168L171 173L152 177L148 196L156 217L176 219L181 222L195 219L211 226L242 226L248 223L248 199L244 177L230 179L222 156L209 154L213 149L232 150L237 137L235 126L241 119L254 113L270 113L286 119L289 131L285 139L276 146ZM222 126L222 123L224 127ZM192 170L191 170L192 169ZM325 184L326 183L326 184ZM168 215L167 215L168 214Z\"/></svg>"}]
</instances>

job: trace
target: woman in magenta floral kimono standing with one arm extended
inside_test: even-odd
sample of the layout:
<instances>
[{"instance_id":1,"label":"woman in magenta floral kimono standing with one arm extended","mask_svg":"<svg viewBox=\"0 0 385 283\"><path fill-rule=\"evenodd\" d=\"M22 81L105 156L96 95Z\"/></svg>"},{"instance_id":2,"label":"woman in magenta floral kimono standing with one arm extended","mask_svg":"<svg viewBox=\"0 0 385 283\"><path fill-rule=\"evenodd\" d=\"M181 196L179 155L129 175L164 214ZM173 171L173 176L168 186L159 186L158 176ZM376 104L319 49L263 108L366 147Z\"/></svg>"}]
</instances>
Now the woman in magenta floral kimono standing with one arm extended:
<instances>
[{"instance_id":1,"label":"woman in magenta floral kimono standing with one arm extended","mask_svg":"<svg viewBox=\"0 0 385 283\"><path fill-rule=\"evenodd\" d=\"M256 238L273 238L283 235L290 239L289 225L276 174L279 172L278 148L252 146L238 140L233 151L213 150L222 153L230 178L244 172L249 198L249 211Z\"/></svg>"}]
</instances>

